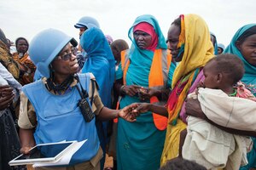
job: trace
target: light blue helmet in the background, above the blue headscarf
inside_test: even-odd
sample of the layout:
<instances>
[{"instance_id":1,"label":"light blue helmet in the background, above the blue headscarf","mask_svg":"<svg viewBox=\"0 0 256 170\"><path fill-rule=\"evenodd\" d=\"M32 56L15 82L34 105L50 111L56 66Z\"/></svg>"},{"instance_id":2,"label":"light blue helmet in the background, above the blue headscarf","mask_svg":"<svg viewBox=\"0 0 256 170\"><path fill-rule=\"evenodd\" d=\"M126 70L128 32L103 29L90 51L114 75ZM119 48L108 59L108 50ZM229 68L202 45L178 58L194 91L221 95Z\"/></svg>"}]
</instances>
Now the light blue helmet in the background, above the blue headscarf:
<instances>
[{"instance_id":1,"label":"light blue helmet in the background, above the blue headscarf","mask_svg":"<svg viewBox=\"0 0 256 170\"><path fill-rule=\"evenodd\" d=\"M89 29L91 27L100 28L100 25L95 18L92 18L90 16L84 16L84 17L80 18L79 22L76 25L74 25L74 27L75 28L86 27L87 29Z\"/></svg>"}]
</instances>

